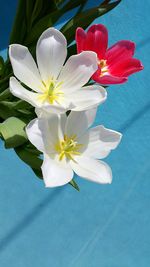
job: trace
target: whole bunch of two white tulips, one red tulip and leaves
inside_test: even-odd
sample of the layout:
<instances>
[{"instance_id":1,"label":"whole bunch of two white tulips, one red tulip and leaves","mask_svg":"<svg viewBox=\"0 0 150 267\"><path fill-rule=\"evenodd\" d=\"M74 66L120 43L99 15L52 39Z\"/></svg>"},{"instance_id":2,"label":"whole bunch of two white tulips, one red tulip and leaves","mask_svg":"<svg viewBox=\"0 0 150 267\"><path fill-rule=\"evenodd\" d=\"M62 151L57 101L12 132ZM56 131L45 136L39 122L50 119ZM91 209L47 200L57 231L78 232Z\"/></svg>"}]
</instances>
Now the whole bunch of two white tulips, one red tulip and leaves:
<instances>
[{"instance_id":1,"label":"whole bunch of two white tulips, one red tulip and leaves","mask_svg":"<svg viewBox=\"0 0 150 267\"><path fill-rule=\"evenodd\" d=\"M133 57L133 42L108 48L106 27L91 25L121 1L89 9L86 2L20 0L7 59L0 58L0 137L46 187L69 183L79 190L74 173L111 183L111 169L102 160L122 135L91 126L107 86L143 69ZM56 29L71 10L73 17Z\"/></svg>"}]
</instances>

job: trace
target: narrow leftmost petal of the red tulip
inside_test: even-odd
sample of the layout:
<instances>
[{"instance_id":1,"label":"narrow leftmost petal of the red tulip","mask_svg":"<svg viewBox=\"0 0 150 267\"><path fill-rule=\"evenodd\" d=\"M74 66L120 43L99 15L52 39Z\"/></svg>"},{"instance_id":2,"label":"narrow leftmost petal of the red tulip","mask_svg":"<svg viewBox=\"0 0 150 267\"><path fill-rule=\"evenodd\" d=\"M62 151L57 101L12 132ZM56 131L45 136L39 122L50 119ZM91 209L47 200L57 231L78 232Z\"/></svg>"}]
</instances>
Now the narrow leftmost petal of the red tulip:
<instances>
[{"instance_id":1,"label":"narrow leftmost petal of the red tulip","mask_svg":"<svg viewBox=\"0 0 150 267\"><path fill-rule=\"evenodd\" d=\"M77 52L81 53L82 51L86 50L86 33L85 31L78 27L76 29L76 44L77 44Z\"/></svg>"}]
</instances>

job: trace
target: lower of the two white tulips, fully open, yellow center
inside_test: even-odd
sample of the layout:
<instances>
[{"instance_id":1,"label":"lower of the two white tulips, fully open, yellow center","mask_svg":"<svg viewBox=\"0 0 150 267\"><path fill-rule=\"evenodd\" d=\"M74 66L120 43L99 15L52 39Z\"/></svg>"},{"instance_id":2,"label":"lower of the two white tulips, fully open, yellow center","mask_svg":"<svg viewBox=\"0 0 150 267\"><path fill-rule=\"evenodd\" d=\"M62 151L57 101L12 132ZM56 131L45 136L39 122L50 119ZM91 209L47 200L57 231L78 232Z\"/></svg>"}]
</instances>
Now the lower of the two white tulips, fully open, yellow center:
<instances>
[{"instance_id":1,"label":"lower of the two white tulips, fully open, yellow center","mask_svg":"<svg viewBox=\"0 0 150 267\"><path fill-rule=\"evenodd\" d=\"M42 173L46 187L71 181L74 172L97 183L111 183L105 158L121 140L121 134L99 125L89 129L96 109L65 114L49 114L29 123L30 142L44 154Z\"/></svg>"}]
</instances>

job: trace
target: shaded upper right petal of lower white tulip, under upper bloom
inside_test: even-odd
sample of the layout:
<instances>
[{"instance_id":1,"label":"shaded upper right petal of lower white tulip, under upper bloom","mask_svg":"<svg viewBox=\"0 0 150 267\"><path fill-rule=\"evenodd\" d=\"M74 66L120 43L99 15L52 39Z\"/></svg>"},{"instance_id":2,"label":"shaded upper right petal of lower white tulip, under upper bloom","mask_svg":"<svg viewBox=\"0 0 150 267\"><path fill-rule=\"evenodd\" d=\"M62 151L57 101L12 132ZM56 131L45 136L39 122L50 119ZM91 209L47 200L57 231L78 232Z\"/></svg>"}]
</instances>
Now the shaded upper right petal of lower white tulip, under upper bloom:
<instances>
[{"instance_id":1,"label":"shaded upper right petal of lower white tulip, under upper bloom","mask_svg":"<svg viewBox=\"0 0 150 267\"><path fill-rule=\"evenodd\" d=\"M96 108L86 111L71 111L67 118L65 133L68 136L76 134L78 137L92 125L96 116Z\"/></svg>"}]
</instances>

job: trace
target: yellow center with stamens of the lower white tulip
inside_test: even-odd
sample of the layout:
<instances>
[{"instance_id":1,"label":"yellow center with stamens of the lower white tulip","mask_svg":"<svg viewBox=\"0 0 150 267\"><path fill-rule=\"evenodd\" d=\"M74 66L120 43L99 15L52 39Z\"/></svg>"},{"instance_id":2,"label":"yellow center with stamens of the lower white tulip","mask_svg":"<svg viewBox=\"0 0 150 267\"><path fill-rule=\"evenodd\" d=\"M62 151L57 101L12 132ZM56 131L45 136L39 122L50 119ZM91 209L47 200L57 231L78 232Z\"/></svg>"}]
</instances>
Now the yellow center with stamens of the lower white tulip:
<instances>
[{"instance_id":1,"label":"yellow center with stamens of the lower white tulip","mask_svg":"<svg viewBox=\"0 0 150 267\"><path fill-rule=\"evenodd\" d=\"M67 136L64 135L64 139L56 143L55 150L59 154L59 160L61 161L64 157L69 160L73 160L74 155L80 155L80 148L83 146L82 144L78 144L76 141L77 136Z\"/></svg>"}]
</instances>

